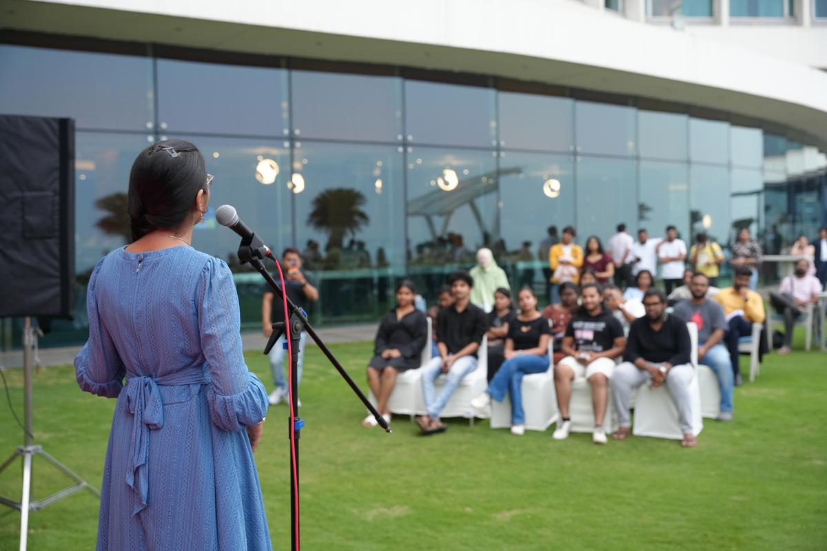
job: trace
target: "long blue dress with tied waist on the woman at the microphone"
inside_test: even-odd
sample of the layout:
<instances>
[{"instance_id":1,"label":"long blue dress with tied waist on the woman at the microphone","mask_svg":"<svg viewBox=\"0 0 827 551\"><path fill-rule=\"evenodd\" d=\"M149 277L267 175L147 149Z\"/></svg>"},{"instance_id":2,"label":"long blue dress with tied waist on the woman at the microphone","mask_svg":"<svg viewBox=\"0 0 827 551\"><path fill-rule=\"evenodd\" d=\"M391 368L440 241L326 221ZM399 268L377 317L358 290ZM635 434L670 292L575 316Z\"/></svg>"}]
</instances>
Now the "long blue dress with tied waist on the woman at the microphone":
<instances>
[{"instance_id":1,"label":"long blue dress with tied waist on the woman at the microphone","mask_svg":"<svg viewBox=\"0 0 827 551\"><path fill-rule=\"evenodd\" d=\"M227 264L185 246L116 249L87 307L75 375L117 398L97 549L272 549L246 435L267 393L241 354Z\"/></svg>"}]
</instances>

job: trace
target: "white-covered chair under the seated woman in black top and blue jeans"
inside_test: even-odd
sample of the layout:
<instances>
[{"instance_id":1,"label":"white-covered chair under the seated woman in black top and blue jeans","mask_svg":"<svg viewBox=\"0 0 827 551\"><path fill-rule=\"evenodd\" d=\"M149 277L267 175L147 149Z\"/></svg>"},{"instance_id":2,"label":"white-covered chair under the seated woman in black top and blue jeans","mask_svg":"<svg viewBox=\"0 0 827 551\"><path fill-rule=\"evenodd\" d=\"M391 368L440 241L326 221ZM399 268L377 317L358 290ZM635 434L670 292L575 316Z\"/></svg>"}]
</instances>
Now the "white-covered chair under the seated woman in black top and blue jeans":
<instances>
[{"instance_id":1,"label":"white-covered chair under the seated woman in black top and blue jeans","mask_svg":"<svg viewBox=\"0 0 827 551\"><path fill-rule=\"evenodd\" d=\"M554 391L554 343L548 340L548 369L523 377L520 389L523 393L523 412L527 430L546 430L557 420L557 393ZM507 429L511 426L511 399L491 401L491 428Z\"/></svg>"}]
</instances>

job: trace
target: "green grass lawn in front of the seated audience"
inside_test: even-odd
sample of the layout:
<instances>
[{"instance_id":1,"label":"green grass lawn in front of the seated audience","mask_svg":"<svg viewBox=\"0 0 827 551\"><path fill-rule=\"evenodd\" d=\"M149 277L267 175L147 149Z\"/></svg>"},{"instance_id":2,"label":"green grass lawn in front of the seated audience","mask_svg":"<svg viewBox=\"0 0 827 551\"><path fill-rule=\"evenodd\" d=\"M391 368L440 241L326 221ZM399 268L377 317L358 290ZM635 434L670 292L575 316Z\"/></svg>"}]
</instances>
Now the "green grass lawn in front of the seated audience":
<instances>
[{"instance_id":1,"label":"green grass lawn in front of the seated audience","mask_svg":"<svg viewBox=\"0 0 827 551\"><path fill-rule=\"evenodd\" d=\"M801 348L801 342L798 343ZM331 347L358 381L370 344ZM266 359L247 354L265 378ZM744 361L743 365L747 365ZM516 437L454 420L418 436L365 429L365 410L311 347L301 439L304 549L825 549L827 355L772 354L736 389L735 420L705 420L696 449L631 438L598 447L590 435ZM22 373L7 372L22 415ZM36 373L38 443L98 486L114 401L81 392L71 368ZM256 453L275 549L289 549L285 406L270 410ZM0 454L21 439L0 402ZM42 459L35 495L64 482ZM19 496L20 469L0 477ZM0 549L17 549L17 512L0 516ZM93 549L98 501L88 492L35 512L29 549Z\"/></svg>"}]
</instances>

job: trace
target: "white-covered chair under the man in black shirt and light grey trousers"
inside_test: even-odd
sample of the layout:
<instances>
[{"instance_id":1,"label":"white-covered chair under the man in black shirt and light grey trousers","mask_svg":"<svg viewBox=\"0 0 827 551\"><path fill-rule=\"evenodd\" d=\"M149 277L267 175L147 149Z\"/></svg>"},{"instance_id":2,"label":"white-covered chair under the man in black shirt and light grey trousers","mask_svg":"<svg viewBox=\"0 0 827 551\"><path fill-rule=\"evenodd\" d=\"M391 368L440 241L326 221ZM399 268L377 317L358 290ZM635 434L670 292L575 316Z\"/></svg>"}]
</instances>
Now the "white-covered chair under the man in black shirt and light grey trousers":
<instances>
[{"instance_id":1,"label":"white-covered chair under the man in black shirt and light grey trousers","mask_svg":"<svg viewBox=\"0 0 827 551\"><path fill-rule=\"evenodd\" d=\"M698 328L691 321L686 324L691 342L693 375L689 385L691 393L692 434L699 435L704 430L704 420L700 416L700 386L698 384ZM634 408L632 434L635 436L652 436L681 440L683 432L678 421L677 408L666 384L660 387L641 387L638 401Z\"/></svg>"}]
</instances>

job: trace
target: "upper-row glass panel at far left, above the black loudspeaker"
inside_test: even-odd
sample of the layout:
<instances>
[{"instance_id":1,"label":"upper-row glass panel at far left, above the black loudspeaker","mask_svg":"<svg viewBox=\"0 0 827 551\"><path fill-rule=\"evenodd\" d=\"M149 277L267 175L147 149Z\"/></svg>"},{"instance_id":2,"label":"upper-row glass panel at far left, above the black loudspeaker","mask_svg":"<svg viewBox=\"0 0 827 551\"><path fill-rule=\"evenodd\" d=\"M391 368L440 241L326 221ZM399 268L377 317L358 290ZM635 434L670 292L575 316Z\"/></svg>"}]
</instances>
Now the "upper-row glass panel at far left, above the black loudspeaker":
<instances>
[{"instance_id":1,"label":"upper-row glass panel at far left, above the black loudspeaker","mask_svg":"<svg viewBox=\"0 0 827 551\"><path fill-rule=\"evenodd\" d=\"M76 128L147 131L152 116L152 61L0 45L0 109L67 116Z\"/></svg>"}]
</instances>

